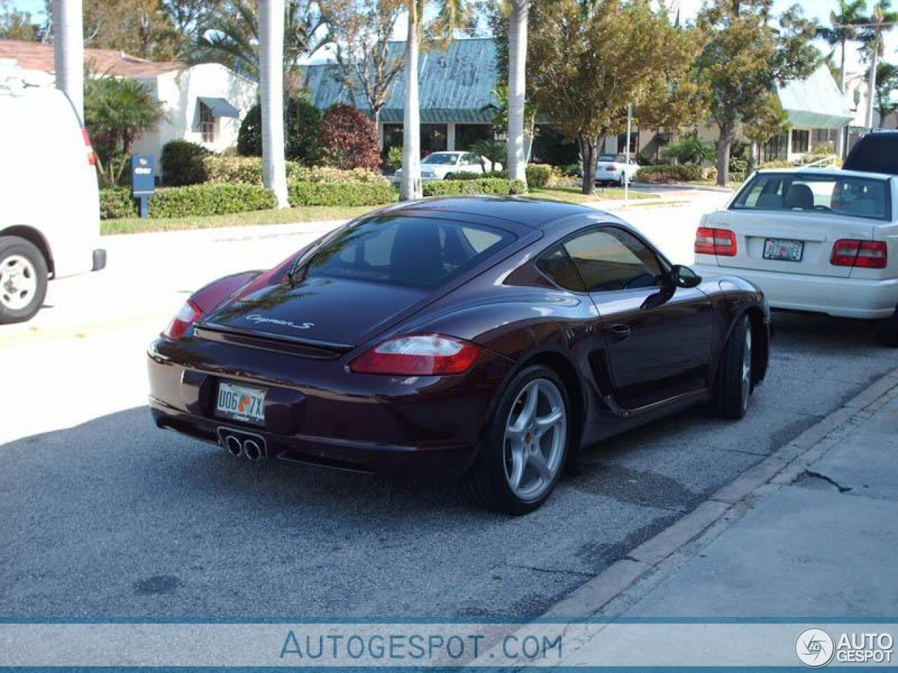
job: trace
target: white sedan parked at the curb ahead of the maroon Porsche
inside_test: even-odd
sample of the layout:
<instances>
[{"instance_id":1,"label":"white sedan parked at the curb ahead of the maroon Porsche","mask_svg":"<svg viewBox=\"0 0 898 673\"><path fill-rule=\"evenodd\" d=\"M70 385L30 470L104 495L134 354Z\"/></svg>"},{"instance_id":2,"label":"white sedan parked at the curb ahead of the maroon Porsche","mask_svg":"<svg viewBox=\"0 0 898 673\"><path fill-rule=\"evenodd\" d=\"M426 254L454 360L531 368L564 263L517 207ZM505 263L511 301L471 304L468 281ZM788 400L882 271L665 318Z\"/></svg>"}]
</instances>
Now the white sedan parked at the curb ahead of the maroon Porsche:
<instances>
[{"instance_id":1,"label":"white sedan parked at the curb ahead of the maroon Porsche","mask_svg":"<svg viewBox=\"0 0 898 673\"><path fill-rule=\"evenodd\" d=\"M898 179L853 170L761 170L705 215L700 275L740 275L774 309L876 320L898 346Z\"/></svg>"}]
</instances>

